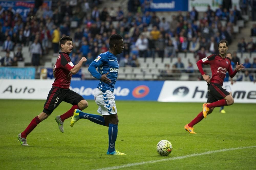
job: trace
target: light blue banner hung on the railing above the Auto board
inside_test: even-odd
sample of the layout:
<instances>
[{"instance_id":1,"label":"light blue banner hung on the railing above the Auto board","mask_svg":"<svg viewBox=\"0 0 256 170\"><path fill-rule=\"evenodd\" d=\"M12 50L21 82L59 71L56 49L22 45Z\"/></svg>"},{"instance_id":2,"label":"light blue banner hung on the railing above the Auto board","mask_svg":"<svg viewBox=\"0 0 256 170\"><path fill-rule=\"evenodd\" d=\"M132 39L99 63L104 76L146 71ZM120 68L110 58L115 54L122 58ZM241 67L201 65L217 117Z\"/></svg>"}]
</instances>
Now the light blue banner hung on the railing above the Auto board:
<instances>
[{"instance_id":1,"label":"light blue banner hung on the railing above the Auto board","mask_svg":"<svg viewBox=\"0 0 256 170\"><path fill-rule=\"evenodd\" d=\"M0 79L35 79L35 68L0 67Z\"/></svg>"}]
</instances>

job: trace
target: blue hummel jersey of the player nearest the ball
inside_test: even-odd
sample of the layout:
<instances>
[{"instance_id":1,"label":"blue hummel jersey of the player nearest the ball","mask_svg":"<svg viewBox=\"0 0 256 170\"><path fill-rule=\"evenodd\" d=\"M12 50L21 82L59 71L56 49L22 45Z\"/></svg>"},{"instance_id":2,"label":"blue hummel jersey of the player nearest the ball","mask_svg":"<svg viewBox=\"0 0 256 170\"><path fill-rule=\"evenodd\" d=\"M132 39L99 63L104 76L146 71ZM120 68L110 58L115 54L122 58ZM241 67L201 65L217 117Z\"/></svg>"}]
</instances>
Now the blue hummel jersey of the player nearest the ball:
<instances>
[{"instance_id":1,"label":"blue hummel jersey of the player nearest the ball","mask_svg":"<svg viewBox=\"0 0 256 170\"><path fill-rule=\"evenodd\" d=\"M99 72L97 72L95 68L98 68ZM106 90L114 92L118 69L119 64L116 56L114 56L109 51L98 55L98 57L90 64L88 68L92 76L99 80L101 79L102 74L106 74L107 72L109 72L107 77L111 80L111 83L104 83L100 81L97 87L103 93L105 93Z\"/></svg>"}]
</instances>

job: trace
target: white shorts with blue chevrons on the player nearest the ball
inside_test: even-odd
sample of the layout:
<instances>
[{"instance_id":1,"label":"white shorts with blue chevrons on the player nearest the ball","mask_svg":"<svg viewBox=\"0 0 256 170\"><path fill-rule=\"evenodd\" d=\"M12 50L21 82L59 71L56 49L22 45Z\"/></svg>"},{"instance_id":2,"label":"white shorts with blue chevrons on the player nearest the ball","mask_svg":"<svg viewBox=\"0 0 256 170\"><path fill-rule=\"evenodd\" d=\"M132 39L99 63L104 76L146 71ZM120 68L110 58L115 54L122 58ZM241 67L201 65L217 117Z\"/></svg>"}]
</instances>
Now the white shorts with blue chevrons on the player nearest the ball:
<instances>
[{"instance_id":1,"label":"white shorts with blue chevrons on the player nearest the ball","mask_svg":"<svg viewBox=\"0 0 256 170\"><path fill-rule=\"evenodd\" d=\"M103 93L100 89L96 89L94 92L94 100L98 104L97 110L101 115L116 114L117 109L115 106L115 96L110 90Z\"/></svg>"}]
</instances>

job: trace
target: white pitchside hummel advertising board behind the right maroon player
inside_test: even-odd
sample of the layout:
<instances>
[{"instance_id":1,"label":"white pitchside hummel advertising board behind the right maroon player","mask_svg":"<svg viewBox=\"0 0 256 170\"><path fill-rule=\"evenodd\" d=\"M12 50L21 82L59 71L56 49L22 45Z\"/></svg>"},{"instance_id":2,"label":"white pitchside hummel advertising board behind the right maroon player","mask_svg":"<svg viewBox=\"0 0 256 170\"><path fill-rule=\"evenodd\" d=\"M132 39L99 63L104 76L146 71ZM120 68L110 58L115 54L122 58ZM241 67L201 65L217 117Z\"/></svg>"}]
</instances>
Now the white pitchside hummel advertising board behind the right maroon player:
<instances>
[{"instance_id":1,"label":"white pitchside hummel advertising board behind the right maroon player","mask_svg":"<svg viewBox=\"0 0 256 170\"><path fill-rule=\"evenodd\" d=\"M231 85L236 103L256 103L256 83L236 82ZM205 81L165 81L158 97L161 102L202 102L207 101Z\"/></svg>"}]
</instances>

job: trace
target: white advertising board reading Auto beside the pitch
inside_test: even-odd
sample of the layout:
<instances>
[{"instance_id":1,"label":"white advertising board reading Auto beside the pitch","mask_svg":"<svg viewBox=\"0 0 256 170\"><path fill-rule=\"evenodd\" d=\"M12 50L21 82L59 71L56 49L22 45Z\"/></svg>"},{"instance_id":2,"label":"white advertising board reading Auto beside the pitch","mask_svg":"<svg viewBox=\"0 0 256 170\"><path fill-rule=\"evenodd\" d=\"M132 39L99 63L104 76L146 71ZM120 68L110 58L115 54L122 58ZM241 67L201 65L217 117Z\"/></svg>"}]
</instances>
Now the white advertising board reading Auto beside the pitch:
<instances>
[{"instance_id":1,"label":"white advertising board reading Auto beside the pitch","mask_svg":"<svg viewBox=\"0 0 256 170\"><path fill-rule=\"evenodd\" d=\"M0 79L0 99L44 99L54 80Z\"/></svg>"}]
</instances>

